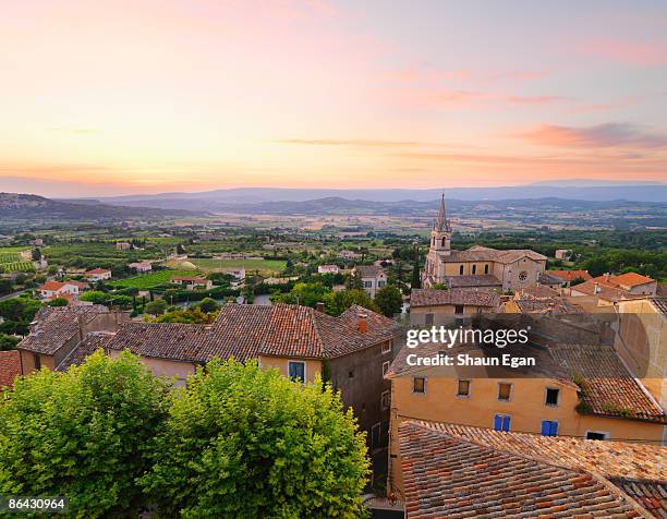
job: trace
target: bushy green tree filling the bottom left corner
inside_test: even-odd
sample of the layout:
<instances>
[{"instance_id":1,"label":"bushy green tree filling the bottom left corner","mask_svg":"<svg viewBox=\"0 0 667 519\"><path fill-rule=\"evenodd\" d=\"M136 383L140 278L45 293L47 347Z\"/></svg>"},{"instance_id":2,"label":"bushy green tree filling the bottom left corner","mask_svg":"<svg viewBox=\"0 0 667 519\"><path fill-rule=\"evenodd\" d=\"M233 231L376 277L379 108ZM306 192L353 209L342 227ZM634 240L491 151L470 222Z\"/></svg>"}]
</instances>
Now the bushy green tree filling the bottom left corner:
<instances>
[{"instance_id":1,"label":"bushy green tree filling the bottom left corner","mask_svg":"<svg viewBox=\"0 0 667 519\"><path fill-rule=\"evenodd\" d=\"M0 494L68 496L72 517L136 517L167 393L129 352L17 379L0 405Z\"/></svg>"}]
</instances>

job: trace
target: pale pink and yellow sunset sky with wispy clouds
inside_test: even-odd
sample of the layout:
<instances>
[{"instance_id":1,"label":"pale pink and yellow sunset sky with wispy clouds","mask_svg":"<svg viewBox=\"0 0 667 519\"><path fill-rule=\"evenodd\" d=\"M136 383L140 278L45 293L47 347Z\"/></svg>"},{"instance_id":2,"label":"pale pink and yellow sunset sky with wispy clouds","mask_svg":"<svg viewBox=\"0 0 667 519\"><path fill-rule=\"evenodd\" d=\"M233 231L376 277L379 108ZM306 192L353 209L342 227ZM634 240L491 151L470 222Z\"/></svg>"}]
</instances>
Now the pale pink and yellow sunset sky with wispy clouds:
<instances>
[{"instance_id":1,"label":"pale pink and yellow sunset sky with wispy clouds","mask_svg":"<svg viewBox=\"0 0 667 519\"><path fill-rule=\"evenodd\" d=\"M0 191L667 181L664 0L21 0Z\"/></svg>"}]
</instances>

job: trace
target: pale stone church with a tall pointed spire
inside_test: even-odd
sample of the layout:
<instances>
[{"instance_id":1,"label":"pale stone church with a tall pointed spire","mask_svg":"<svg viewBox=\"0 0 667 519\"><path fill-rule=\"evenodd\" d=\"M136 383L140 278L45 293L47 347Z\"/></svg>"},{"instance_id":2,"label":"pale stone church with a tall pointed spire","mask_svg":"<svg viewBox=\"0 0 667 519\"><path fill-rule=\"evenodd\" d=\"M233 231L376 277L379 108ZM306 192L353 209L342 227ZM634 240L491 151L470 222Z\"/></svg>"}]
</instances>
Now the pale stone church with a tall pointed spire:
<instances>
[{"instance_id":1,"label":"pale stone church with a tall pointed spire","mask_svg":"<svg viewBox=\"0 0 667 519\"><path fill-rule=\"evenodd\" d=\"M430 231L430 248L422 273L422 286L445 283L448 288L517 292L537 285L546 269L546 256L529 249L498 250L475 245L451 250L451 225L445 195Z\"/></svg>"}]
</instances>

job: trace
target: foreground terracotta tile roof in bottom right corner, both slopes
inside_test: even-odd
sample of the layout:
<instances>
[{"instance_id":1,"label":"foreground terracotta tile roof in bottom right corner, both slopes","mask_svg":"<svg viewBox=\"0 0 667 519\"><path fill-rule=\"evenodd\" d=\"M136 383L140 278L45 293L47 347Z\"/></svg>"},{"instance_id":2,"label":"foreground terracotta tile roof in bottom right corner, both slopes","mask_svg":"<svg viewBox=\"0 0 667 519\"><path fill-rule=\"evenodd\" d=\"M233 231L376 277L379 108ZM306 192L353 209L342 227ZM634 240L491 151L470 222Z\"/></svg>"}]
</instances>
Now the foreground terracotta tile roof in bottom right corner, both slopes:
<instances>
[{"instance_id":1,"label":"foreground terracotta tile roof in bottom right corner, both slopes","mask_svg":"<svg viewBox=\"0 0 667 519\"><path fill-rule=\"evenodd\" d=\"M667 449L410 420L399 435L405 517L665 517Z\"/></svg>"}]
</instances>

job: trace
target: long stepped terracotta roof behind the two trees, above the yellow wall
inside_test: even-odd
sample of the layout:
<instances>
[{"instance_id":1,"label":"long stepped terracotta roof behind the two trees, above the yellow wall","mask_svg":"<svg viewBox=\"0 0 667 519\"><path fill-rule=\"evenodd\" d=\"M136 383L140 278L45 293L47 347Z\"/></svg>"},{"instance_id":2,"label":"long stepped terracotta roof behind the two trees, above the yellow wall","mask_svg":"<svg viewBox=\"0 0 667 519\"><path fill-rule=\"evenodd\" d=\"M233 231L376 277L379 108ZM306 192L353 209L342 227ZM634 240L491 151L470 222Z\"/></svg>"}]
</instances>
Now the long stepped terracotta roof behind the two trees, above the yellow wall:
<instances>
[{"instance_id":1,"label":"long stepped terracotta roof behind the two trees, above the yellow wall","mask_svg":"<svg viewBox=\"0 0 667 519\"><path fill-rule=\"evenodd\" d=\"M336 318L307 306L226 304L209 326L131 323L107 342L110 349L183 362L214 357L238 360L258 355L332 359L386 340L396 324L364 309L368 329L352 327L352 317Z\"/></svg>"}]
</instances>

